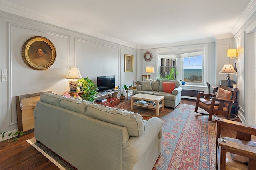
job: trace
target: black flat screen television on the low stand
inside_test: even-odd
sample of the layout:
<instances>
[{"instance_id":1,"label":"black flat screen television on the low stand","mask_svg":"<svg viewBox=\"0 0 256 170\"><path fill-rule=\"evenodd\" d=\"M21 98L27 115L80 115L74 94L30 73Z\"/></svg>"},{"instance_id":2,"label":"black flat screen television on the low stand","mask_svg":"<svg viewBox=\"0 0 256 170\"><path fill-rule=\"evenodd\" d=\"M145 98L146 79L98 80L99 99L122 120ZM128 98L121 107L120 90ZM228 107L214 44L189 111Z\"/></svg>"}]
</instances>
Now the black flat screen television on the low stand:
<instances>
[{"instance_id":1,"label":"black flat screen television on the low stand","mask_svg":"<svg viewBox=\"0 0 256 170\"><path fill-rule=\"evenodd\" d=\"M115 76L97 77L98 92L110 91L115 89Z\"/></svg>"}]
</instances>

